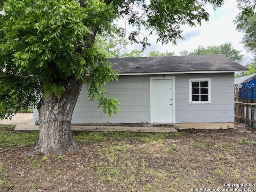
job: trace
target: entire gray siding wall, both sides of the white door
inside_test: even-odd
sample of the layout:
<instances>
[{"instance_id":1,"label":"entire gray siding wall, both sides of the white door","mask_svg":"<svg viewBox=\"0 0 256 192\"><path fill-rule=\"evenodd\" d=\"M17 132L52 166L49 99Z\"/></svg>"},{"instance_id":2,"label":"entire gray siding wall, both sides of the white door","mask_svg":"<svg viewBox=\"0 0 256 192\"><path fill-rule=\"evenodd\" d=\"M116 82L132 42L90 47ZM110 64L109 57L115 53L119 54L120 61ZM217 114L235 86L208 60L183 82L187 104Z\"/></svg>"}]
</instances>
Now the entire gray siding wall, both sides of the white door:
<instances>
[{"instance_id":1,"label":"entire gray siding wall, both sides of the white door","mask_svg":"<svg viewBox=\"0 0 256 192\"><path fill-rule=\"evenodd\" d=\"M234 122L234 73L177 74L176 123ZM211 78L212 104L189 104L189 78ZM90 101L85 85L74 108L72 123L150 123L150 76L119 76L107 85L108 96L120 101L117 116L108 118ZM34 121L37 114L34 114Z\"/></svg>"}]
</instances>

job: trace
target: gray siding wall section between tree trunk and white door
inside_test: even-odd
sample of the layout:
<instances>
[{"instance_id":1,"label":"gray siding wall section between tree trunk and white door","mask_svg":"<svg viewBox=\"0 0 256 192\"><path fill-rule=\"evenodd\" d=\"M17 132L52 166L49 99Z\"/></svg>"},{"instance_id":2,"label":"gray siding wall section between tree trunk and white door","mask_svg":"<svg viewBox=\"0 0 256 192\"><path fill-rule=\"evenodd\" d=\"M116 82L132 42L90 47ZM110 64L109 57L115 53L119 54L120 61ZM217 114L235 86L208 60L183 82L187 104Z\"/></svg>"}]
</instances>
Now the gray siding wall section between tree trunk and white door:
<instances>
[{"instance_id":1,"label":"gray siding wall section between tree trunk and white door","mask_svg":"<svg viewBox=\"0 0 256 192\"><path fill-rule=\"evenodd\" d=\"M150 122L150 76L119 76L118 81L106 86L107 95L118 98L118 115L108 118L98 108L97 101L90 101L86 86L74 108L71 123L146 123Z\"/></svg>"}]
</instances>

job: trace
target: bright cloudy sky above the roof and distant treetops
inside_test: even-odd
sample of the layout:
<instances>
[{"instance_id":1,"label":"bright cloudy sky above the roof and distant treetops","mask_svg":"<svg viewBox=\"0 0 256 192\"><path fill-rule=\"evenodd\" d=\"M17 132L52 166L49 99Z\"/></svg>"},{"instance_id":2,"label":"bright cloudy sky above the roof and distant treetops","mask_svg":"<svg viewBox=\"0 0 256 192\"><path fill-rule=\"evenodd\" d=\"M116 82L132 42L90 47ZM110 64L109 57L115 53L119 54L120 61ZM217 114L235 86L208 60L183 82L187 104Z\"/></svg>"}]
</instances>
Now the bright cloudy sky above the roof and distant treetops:
<instances>
[{"instance_id":1,"label":"bright cloudy sky above the roof and distant treetops","mask_svg":"<svg viewBox=\"0 0 256 192\"><path fill-rule=\"evenodd\" d=\"M246 51L243 47L242 32L236 30L236 24L233 20L236 18L239 10L236 7L237 3L235 0L226 0L221 8L213 10L212 6L206 6L207 12L210 14L208 22L203 21L201 26L189 27L182 26L182 36L184 40L178 40L177 45L167 44L162 45L161 43L156 44L156 37L150 36L149 42L150 47L147 47L145 52L151 50L158 50L160 52L174 52L175 55L180 55L180 51L187 50L192 51L199 45L207 46L219 46L226 42L231 42L236 50L242 50L242 54L246 57L250 57L251 54ZM121 24L123 25L123 24ZM126 29L129 28L126 25ZM128 47L128 50L141 49L140 45L132 45Z\"/></svg>"}]
</instances>

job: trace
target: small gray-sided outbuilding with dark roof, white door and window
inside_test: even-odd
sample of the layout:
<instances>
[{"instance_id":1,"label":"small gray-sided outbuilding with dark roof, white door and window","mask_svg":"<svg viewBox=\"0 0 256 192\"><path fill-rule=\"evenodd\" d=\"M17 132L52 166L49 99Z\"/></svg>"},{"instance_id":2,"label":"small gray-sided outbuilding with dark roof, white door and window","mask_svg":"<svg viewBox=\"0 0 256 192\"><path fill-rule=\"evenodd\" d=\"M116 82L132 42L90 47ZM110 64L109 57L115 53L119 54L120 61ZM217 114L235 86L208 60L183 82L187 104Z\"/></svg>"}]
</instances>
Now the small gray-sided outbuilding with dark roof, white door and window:
<instances>
[{"instance_id":1,"label":"small gray-sided outbuilding with dark roof, white door and window","mask_svg":"<svg viewBox=\"0 0 256 192\"><path fill-rule=\"evenodd\" d=\"M234 126L234 72L248 69L222 55L109 58L118 81L106 86L120 111L108 118L86 85L72 124L174 124L179 128ZM34 120L38 113L34 112Z\"/></svg>"}]
</instances>

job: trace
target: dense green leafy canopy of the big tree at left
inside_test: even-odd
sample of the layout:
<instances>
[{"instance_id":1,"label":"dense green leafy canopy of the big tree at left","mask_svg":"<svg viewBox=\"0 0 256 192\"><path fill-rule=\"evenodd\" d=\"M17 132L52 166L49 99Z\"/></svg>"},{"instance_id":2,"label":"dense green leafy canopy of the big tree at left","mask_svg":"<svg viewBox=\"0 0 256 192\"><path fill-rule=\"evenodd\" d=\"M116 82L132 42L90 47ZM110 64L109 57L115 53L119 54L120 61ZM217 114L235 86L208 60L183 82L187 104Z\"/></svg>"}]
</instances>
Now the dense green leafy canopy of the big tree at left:
<instances>
[{"instance_id":1,"label":"dense green leafy canopy of the big tree at left","mask_svg":"<svg viewBox=\"0 0 256 192\"><path fill-rule=\"evenodd\" d=\"M103 106L117 103L104 96L103 88L117 73L104 64L105 55L94 49L91 41L94 28L99 32L110 28L115 10L97 0L84 5L72 0L6 1L0 18L1 118L37 102L41 92L44 97L60 98L65 91L61 81L84 80L92 68L91 78L85 79L90 97Z\"/></svg>"}]
</instances>

